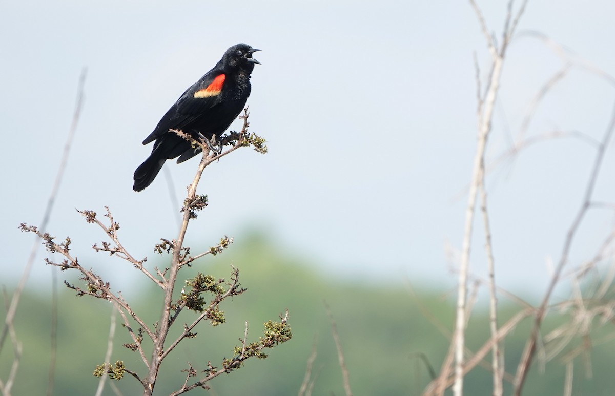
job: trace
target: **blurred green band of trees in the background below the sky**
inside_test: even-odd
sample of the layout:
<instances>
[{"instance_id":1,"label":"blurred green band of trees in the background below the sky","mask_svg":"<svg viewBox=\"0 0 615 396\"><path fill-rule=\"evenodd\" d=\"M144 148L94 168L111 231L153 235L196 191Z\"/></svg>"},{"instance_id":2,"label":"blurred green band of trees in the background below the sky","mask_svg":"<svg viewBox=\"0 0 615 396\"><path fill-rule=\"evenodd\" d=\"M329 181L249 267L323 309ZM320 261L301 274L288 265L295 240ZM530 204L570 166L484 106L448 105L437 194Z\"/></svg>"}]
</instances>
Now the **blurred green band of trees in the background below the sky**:
<instances>
[{"instance_id":1,"label":"blurred green band of trees in the background below the sky","mask_svg":"<svg viewBox=\"0 0 615 396\"><path fill-rule=\"evenodd\" d=\"M151 266L164 267L162 258L152 261L156 263L149 263ZM245 320L248 321L248 341L257 341L263 334L263 323L269 319L278 320L279 314L288 309L293 338L270 350L266 360L248 360L237 372L208 382L212 388L208 392L214 396L297 394L315 342L317 357L312 370L312 378L316 376L313 394L343 395L341 370L323 300L327 301L336 320L354 395L419 395L430 380L426 362L439 371L449 341L434 321L451 329L454 317L454 303L445 291L416 288L411 291L410 286L399 287L400 282L391 282L391 285L367 281L353 283L327 277L312 270L306 261L280 253L274 244L256 234L238 239L221 256L196 261L192 268L180 272L180 278L194 277L198 271L216 278L228 278L231 275L229 264L239 267L240 282L247 287L247 292L221 305L226 323L218 327L202 323L195 330L198 333L196 338L185 339L167 357L155 394L166 395L177 390L185 381L185 373L181 370L188 368L188 362L199 373L207 369L208 361L221 366L223 358L231 357L234 347L240 345ZM69 275L76 276L66 272L59 276L63 279ZM146 323L154 323L160 312L162 295L160 290L146 286L145 280L143 283L140 300L129 303L146 319ZM92 395L98 386L98 378L92 373L104 360L112 306L92 298L77 298L73 294L60 287L54 394ZM49 296L31 293L23 296L15 323L18 338L23 343L23 357L12 392L14 395L46 393L50 311ZM488 338L486 310L478 308L476 311L467 331L467 346L472 350L477 350ZM501 323L517 311L515 306L502 307ZM4 311L1 312L4 317ZM181 324L191 322L194 315L194 312L183 312L175 325L175 332L172 331L168 339L174 339ZM116 319L111 362L123 360L127 368L143 373L138 353L122 347L122 344L132 343L132 339L121 327L121 318L117 316ZM547 319L547 327L551 328L569 320L557 315L549 315ZM514 374L529 329L530 321L525 320L506 340L509 373ZM607 326L593 336L609 336L609 331L615 333ZM569 348L578 346L582 340L575 342L573 340ZM146 341L144 345L146 351L149 350ZM467 376L467 395L491 394L490 357L489 354L485 359L485 368L478 367ZM573 394L613 395L614 357L614 344L604 343L591 351L589 360L575 358ZM0 378L6 379L11 362L12 346L7 340L0 356ZM590 363L591 370L587 363ZM536 361L525 394L561 395L564 381L565 366L561 359L555 358L546 365ZM140 384L131 376L124 376L116 385L124 395L141 394ZM510 389L510 384L506 384L505 394L510 394ZM195 389L189 394L204 392ZM104 394L113 395L113 392L106 386Z\"/></svg>"}]
</instances>

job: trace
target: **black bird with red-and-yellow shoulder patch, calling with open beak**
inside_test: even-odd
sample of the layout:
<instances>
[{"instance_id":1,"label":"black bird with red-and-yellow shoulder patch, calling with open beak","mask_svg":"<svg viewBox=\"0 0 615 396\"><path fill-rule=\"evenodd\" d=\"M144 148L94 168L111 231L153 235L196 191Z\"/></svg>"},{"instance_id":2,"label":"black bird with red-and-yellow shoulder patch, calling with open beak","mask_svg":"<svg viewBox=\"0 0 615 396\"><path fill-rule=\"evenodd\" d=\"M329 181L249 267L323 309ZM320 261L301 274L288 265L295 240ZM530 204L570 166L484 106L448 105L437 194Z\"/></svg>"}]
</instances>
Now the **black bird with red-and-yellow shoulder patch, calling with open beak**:
<instances>
[{"instance_id":1,"label":"black bird with red-and-yellow shoulder patch, calling with open beak","mask_svg":"<svg viewBox=\"0 0 615 396\"><path fill-rule=\"evenodd\" d=\"M257 49L247 44L237 44L226 52L213 69L195 82L175 102L145 140L152 141L154 148L148 159L135 170L135 191L145 189L154 181L165 160L177 159L177 163L196 156L200 149L169 129L182 130L197 140L199 133L208 140L218 138L244 109L250 96L250 73L255 63L252 57Z\"/></svg>"}]
</instances>

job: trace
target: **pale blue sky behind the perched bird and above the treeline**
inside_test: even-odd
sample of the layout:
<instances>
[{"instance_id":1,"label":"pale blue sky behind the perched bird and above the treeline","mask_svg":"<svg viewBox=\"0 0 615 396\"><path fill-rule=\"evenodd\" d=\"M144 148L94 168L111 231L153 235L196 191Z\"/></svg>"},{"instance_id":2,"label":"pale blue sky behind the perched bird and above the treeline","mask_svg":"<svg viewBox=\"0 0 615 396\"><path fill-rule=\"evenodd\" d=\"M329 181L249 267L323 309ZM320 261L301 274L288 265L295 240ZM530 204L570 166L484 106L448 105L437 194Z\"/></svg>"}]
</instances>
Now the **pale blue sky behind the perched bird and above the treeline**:
<instances>
[{"instance_id":1,"label":"pale blue sky behind the perched bird and above the treeline","mask_svg":"<svg viewBox=\"0 0 615 396\"><path fill-rule=\"evenodd\" d=\"M175 236L176 213L163 173L144 192L131 189L133 170L151 150L141 141L237 42L263 49L248 105L252 130L268 140L270 152L245 149L207 170L200 192L209 195L210 207L193 224L188 243L212 245L226 234L240 244L245 229L262 227L327 273L454 283L446 247L461 247L474 155L472 54L483 77L488 60L469 3L230 4L0 5L1 283L21 274L32 244L18 224L41 222L82 67L88 70L84 109L49 229L73 237L82 262L100 263L89 247L101 234L74 208L103 213L108 205L133 255L153 258L153 244ZM499 36L506 1L479 5ZM611 1L530 0L519 31L547 34L615 74L613 15ZM510 147L531 98L561 65L538 39L512 43L490 159ZM599 138L614 93L573 68L539 107L528 135L579 130ZM534 146L491 173L494 255L504 287L540 290L546 284L547 258L557 260L592 156L582 141L560 140ZM181 197L197 161L167 164ZM601 201L614 200L614 169L611 148L597 187ZM613 213L592 212L588 220L573 249L576 264L611 229ZM485 265L481 235L472 255L478 273ZM117 262L106 271L125 267ZM33 280L49 272L39 260Z\"/></svg>"}]
</instances>

